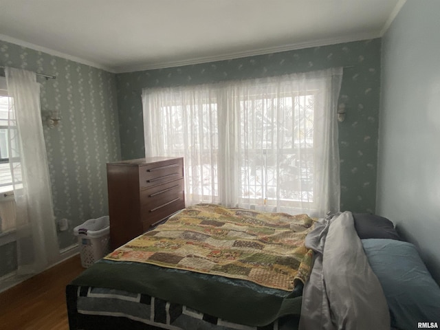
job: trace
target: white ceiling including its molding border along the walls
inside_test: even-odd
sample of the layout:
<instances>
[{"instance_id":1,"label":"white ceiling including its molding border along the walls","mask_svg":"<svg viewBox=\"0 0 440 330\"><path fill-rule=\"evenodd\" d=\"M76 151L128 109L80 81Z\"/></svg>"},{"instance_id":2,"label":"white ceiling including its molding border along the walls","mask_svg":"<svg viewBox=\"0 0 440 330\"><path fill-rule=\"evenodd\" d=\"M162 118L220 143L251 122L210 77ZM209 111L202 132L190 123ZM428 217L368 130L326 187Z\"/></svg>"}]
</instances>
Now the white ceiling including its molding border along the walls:
<instances>
[{"instance_id":1,"label":"white ceiling including its molding border along the walls","mask_svg":"<svg viewBox=\"0 0 440 330\"><path fill-rule=\"evenodd\" d=\"M0 0L0 39L130 72L377 38L406 0Z\"/></svg>"}]
</instances>

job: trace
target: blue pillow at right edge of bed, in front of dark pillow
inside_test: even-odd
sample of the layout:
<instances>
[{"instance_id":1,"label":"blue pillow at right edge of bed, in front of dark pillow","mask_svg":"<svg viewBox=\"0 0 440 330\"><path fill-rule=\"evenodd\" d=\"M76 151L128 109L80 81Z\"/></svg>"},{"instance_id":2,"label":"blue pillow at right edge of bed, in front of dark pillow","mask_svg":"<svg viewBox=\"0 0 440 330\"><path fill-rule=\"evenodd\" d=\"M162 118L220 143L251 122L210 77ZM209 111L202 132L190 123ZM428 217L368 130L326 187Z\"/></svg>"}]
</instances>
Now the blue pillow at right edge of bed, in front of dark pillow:
<instances>
[{"instance_id":1,"label":"blue pillow at right edge of bed, in front of dark pillow","mask_svg":"<svg viewBox=\"0 0 440 330\"><path fill-rule=\"evenodd\" d=\"M440 324L440 287L415 245L394 239L363 239L362 245L384 290L391 326L412 330L419 322Z\"/></svg>"}]
</instances>

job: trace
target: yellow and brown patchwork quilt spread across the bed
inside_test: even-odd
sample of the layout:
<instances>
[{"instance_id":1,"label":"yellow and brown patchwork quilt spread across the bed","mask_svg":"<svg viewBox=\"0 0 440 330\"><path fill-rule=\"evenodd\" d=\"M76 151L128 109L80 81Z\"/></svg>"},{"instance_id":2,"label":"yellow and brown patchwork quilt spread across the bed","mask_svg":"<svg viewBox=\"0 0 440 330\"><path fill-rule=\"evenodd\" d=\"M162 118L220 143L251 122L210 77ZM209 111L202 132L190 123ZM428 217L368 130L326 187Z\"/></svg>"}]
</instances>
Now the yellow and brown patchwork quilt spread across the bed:
<instances>
[{"instance_id":1,"label":"yellow and brown patchwork quilt spread across the bed","mask_svg":"<svg viewBox=\"0 0 440 330\"><path fill-rule=\"evenodd\" d=\"M306 214L199 204L105 259L237 278L291 292L310 274L312 254L304 241L313 223Z\"/></svg>"}]
</instances>

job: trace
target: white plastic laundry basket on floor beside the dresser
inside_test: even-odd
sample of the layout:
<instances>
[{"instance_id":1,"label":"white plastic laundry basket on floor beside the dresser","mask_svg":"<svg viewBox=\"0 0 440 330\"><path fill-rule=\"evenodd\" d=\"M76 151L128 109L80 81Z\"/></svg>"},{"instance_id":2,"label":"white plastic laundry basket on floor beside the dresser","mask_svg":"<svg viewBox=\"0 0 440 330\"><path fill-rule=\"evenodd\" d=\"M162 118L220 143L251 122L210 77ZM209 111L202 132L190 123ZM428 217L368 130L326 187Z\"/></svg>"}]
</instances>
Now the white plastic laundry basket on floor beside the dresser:
<instances>
[{"instance_id":1,"label":"white plastic laundry basket on floor beside the dresser","mask_svg":"<svg viewBox=\"0 0 440 330\"><path fill-rule=\"evenodd\" d=\"M110 252L109 216L89 219L74 228L78 236L81 265L87 268Z\"/></svg>"}]
</instances>

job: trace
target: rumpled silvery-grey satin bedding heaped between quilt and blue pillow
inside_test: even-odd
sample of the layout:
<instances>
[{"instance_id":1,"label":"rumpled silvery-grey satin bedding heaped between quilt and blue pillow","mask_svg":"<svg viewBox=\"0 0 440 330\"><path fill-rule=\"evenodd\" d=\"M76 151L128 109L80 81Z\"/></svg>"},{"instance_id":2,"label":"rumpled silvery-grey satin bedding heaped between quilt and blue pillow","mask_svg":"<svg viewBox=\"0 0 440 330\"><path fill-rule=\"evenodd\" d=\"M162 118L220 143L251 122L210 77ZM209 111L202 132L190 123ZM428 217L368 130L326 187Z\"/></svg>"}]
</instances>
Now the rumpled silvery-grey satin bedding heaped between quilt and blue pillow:
<instances>
[{"instance_id":1,"label":"rumpled silvery-grey satin bedding heaped between quilt and blue pillow","mask_svg":"<svg viewBox=\"0 0 440 330\"><path fill-rule=\"evenodd\" d=\"M390 329L386 298L351 212L317 223L305 245L315 257L303 292L300 329Z\"/></svg>"}]
</instances>

